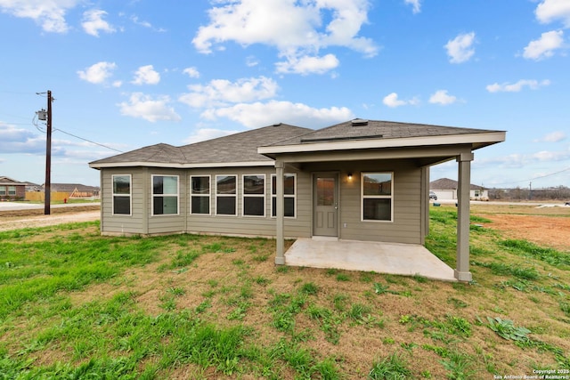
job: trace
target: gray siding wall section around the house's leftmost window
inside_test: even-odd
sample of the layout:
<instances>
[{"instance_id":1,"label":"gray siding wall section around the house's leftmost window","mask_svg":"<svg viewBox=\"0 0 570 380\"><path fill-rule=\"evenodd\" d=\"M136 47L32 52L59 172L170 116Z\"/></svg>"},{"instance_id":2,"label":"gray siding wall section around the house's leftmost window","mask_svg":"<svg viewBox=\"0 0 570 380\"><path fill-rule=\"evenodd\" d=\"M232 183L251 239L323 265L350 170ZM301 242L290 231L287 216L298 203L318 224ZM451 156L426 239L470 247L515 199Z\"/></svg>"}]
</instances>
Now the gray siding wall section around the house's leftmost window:
<instances>
[{"instance_id":1,"label":"gray siding wall section around the house's leftmost window","mask_svg":"<svg viewBox=\"0 0 570 380\"><path fill-rule=\"evenodd\" d=\"M131 214L113 215L113 174L131 175ZM101 209L102 234L144 234L146 233L147 209L144 199L147 182L146 168L102 169Z\"/></svg>"}]
</instances>

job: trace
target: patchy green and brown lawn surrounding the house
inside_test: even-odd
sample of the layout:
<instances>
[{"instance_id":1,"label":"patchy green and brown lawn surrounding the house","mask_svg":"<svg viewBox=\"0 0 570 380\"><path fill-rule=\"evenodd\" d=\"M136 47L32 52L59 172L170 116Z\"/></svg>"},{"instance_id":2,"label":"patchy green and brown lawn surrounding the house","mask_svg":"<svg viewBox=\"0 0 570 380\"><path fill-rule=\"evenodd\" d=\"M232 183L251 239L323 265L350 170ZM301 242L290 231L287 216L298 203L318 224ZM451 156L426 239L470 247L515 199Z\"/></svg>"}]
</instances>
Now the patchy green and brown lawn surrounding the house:
<instances>
[{"instance_id":1,"label":"patchy green and brown lawn surrounding the house","mask_svg":"<svg viewBox=\"0 0 570 380\"><path fill-rule=\"evenodd\" d=\"M432 209L426 244L452 267L456 218ZM0 232L0 379L570 369L570 253L476 225L471 243L474 281L460 284L276 267L267 239L101 237L98 222Z\"/></svg>"}]
</instances>

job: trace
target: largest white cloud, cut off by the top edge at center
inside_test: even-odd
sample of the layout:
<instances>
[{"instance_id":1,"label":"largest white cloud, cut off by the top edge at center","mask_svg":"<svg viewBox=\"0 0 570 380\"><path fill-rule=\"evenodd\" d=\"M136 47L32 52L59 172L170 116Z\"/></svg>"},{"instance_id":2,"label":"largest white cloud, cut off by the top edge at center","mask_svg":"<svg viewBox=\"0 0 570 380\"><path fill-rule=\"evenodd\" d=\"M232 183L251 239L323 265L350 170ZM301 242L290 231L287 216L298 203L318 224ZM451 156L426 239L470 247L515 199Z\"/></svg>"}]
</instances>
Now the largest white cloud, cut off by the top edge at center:
<instances>
[{"instance_id":1,"label":"largest white cloud, cut off by the top edge at center","mask_svg":"<svg viewBox=\"0 0 570 380\"><path fill-rule=\"evenodd\" d=\"M288 61L314 56L320 49L343 46L374 56L378 47L358 36L368 22L367 0L218 0L209 10L210 22L199 28L192 43L200 53L214 45L268 44Z\"/></svg>"}]
</instances>

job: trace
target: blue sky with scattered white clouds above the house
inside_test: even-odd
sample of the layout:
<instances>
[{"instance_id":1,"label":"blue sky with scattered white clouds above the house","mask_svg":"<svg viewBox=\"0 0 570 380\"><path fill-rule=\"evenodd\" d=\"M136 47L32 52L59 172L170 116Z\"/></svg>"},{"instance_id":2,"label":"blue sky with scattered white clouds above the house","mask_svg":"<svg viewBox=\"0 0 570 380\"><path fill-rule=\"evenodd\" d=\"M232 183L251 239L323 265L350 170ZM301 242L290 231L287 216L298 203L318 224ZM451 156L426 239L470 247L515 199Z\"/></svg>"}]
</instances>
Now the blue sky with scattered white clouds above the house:
<instances>
[{"instance_id":1,"label":"blue sky with scattered white clouds above the house","mask_svg":"<svg viewBox=\"0 0 570 380\"><path fill-rule=\"evenodd\" d=\"M44 182L51 90L52 182L98 185L88 162L159 142L361 117L504 130L472 183L570 186L570 0L0 0L0 36L0 175L19 181Z\"/></svg>"}]
</instances>

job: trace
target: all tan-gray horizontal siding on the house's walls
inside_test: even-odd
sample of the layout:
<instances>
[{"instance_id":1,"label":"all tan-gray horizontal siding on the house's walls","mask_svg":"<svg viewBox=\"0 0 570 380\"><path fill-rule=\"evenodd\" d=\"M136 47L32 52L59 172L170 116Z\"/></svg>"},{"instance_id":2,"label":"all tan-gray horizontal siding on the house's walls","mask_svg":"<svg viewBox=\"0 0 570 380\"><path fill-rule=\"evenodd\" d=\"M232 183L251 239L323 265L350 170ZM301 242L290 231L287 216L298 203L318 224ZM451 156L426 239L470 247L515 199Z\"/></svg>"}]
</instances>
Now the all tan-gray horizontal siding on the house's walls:
<instances>
[{"instance_id":1,"label":"all tan-gray horizontal siding on the house's walls","mask_svg":"<svg viewBox=\"0 0 570 380\"><path fill-rule=\"evenodd\" d=\"M413 160L346 161L305 164L302 171L286 167L285 173L297 175L296 217L284 219L286 238L313 236L313 174L338 174L339 239L422 244L421 168ZM392 222L362 221L362 172L394 173ZM102 233L167 234L206 233L237 236L275 236L272 214L271 174L273 166L160 169L118 168L102 170ZM348 180L348 174L353 174ZM132 215L112 215L112 174L132 175ZM179 176L179 214L152 215L151 178L153 174ZM237 176L237 215L216 215L216 175ZM265 174L265 216L242 214L243 174ZM210 176L210 214L191 214L190 178Z\"/></svg>"}]
</instances>

